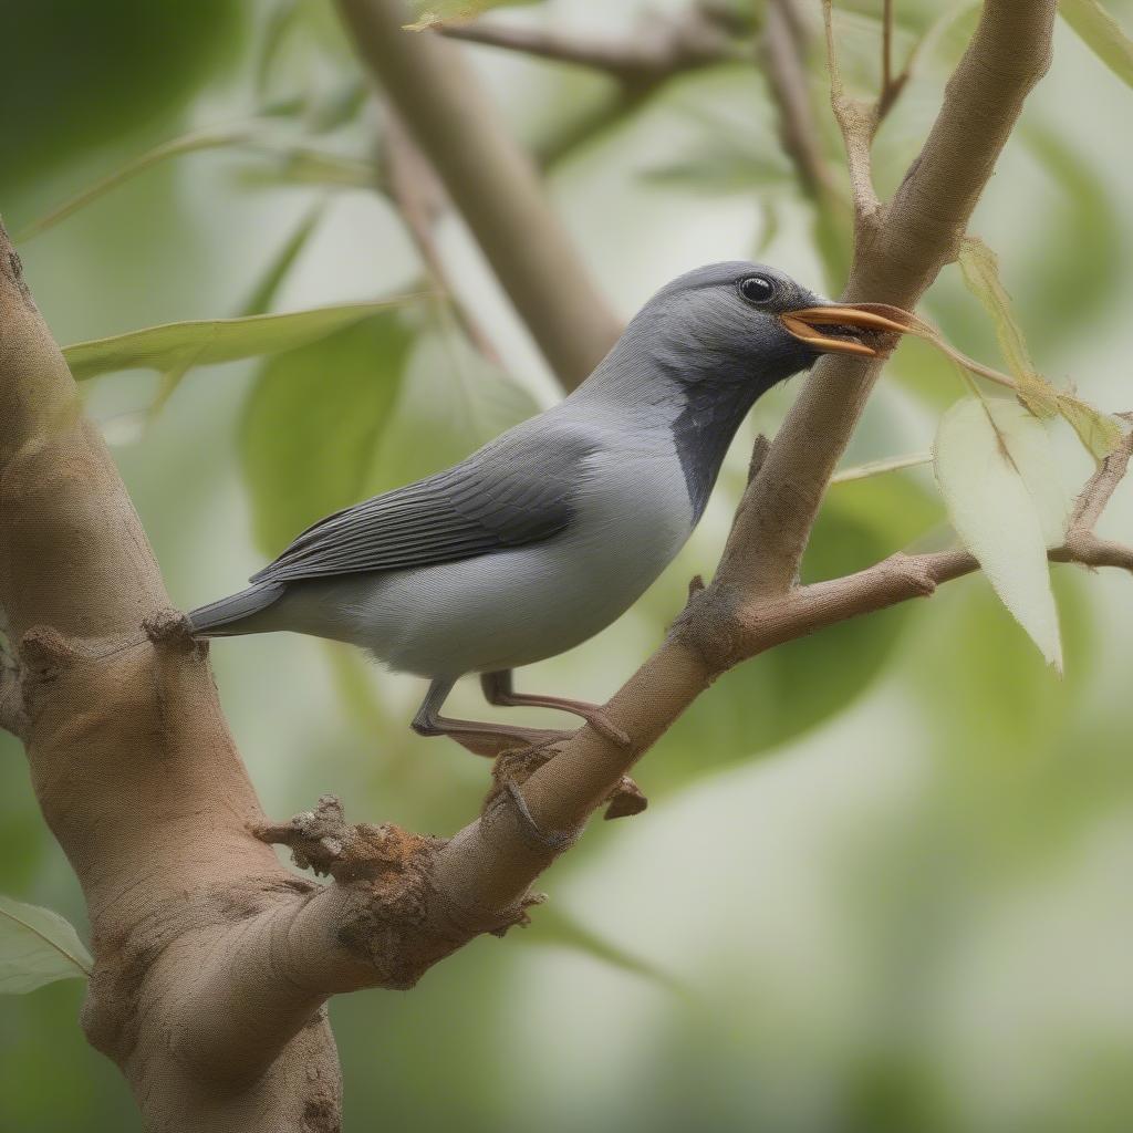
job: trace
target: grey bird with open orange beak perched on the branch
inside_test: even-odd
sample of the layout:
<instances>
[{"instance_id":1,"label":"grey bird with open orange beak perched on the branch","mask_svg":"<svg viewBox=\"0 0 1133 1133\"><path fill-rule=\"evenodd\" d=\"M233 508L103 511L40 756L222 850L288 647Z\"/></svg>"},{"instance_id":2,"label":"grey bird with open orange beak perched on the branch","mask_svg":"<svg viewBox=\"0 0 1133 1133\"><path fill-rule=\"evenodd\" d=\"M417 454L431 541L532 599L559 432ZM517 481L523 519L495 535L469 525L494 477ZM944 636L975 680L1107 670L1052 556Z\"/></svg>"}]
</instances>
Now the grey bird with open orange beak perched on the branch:
<instances>
[{"instance_id":1,"label":"grey bird with open orange beak perched on the branch","mask_svg":"<svg viewBox=\"0 0 1133 1133\"><path fill-rule=\"evenodd\" d=\"M193 611L197 637L290 630L428 680L411 727L472 751L568 732L443 716L478 674L493 705L560 709L628 743L591 704L517 692L516 668L623 614L685 544L757 399L823 353L870 357L905 327L763 264L680 275L564 400L460 463L327 516L250 585Z\"/></svg>"}]
</instances>

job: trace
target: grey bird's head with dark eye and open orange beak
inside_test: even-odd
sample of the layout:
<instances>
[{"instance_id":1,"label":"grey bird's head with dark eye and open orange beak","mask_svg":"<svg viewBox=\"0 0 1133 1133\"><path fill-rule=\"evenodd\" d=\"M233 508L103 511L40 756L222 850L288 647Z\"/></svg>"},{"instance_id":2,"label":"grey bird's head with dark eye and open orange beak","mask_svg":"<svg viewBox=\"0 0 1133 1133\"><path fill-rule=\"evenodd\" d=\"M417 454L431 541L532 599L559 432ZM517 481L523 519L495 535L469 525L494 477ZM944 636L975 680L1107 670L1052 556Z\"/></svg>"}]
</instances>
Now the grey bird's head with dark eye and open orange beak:
<instances>
[{"instance_id":1,"label":"grey bird's head with dark eye and open orange beak","mask_svg":"<svg viewBox=\"0 0 1133 1133\"><path fill-rule=\"evenodd\" d=\"M732 261L666 284L623 342L685 389L743 385L758 397L820 355L872 357L903 330L871 310L833 304L773 267Z\"/></svg>"}]
</instances>

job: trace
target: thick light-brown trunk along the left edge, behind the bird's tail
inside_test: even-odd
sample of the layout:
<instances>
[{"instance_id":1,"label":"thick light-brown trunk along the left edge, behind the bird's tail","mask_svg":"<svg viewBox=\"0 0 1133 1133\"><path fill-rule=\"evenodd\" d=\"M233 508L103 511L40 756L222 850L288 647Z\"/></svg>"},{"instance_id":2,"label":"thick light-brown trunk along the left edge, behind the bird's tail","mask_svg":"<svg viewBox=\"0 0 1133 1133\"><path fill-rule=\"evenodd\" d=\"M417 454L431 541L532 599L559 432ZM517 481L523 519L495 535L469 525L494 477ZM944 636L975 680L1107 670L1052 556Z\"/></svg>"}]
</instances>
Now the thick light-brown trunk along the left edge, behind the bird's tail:
<instances>
[{"instance_id":1,"label":"thick light-brown trunk along the left edge, behind the bird's tail","mask_svg":"<svg viewBox=\"0 0 1133 1133\"><path fill-rule=\"evenodd\" d=\"M168 604L0 229L0 607L19 644L18 723L36 796L90 911L84 1028L121 1067L151 1131L330 1133L339 1076L325 1021L308 1015L238 1089L219 1088L199 1051L177 1043L205 957L296 889L250 834L258 803L204 656L162 615Z\"/></svg>"}]
</instances>

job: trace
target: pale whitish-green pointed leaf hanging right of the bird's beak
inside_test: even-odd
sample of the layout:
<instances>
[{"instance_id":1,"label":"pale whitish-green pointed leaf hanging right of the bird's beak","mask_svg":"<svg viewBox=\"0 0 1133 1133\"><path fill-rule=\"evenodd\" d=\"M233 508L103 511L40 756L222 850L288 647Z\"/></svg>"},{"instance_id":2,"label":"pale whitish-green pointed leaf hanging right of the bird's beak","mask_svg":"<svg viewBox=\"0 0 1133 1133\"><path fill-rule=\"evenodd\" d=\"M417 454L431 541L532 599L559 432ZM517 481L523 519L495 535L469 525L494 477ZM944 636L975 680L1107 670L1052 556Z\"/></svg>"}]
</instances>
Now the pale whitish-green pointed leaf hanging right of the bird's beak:
<instances>
[{"instance_id":1,"label":"pale whitish-green pointed leaf hanging right of the bird's beak","mask_svg":"<svg viewBox=\"0 0 1133 1133\"><path fill-rule=\"evenodd\" d=\"M1051 471L1046 431L1017 402L968 398L942 418L934 452L956 533L1004 605L1060 672L1047 547L1060 540L1066 500Z\"/></svg>"}]
</instances>

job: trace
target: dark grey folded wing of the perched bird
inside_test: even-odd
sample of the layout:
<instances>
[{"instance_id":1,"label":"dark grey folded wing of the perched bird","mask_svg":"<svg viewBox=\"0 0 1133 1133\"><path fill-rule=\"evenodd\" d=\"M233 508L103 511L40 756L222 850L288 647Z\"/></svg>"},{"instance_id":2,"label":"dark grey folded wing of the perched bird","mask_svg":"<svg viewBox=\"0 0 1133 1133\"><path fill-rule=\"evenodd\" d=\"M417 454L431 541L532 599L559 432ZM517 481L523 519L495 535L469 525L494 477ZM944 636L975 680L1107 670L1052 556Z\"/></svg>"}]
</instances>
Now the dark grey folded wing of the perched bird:
<instances>
[{"instance_id":1,"label":"dark grey folded wing of the perched bird","mask_svg":"<svg viewBox=\"0 0 1133 1133\"><path fill-rule=\"evenodd\" d=\"M252 581L428 566L556 535L571 521L571 496L596 444L540 425L519 426L454 468L327 516Z\"/></svg>"}]
</instances>

